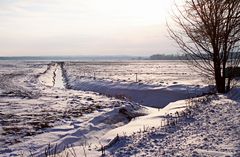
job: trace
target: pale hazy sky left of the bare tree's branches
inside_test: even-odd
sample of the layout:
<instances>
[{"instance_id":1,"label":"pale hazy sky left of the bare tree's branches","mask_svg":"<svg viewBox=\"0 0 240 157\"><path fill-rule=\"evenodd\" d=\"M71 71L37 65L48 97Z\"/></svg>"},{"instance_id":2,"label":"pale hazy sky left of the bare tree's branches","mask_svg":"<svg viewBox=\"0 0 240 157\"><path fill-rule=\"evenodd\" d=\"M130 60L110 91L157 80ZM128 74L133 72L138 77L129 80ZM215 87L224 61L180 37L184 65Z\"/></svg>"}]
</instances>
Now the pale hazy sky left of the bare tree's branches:
<instances>
[{"instance_id":1,"label":"pale hazy sky left of the bare tree's branches","mask_svg":"<svg viewBox=\"0 0 240 157\"><path fill-rule=\"evenodd\" d=\"M0 0L0 56L175 53L173 0Z\"/></svg>"}]
</instances>

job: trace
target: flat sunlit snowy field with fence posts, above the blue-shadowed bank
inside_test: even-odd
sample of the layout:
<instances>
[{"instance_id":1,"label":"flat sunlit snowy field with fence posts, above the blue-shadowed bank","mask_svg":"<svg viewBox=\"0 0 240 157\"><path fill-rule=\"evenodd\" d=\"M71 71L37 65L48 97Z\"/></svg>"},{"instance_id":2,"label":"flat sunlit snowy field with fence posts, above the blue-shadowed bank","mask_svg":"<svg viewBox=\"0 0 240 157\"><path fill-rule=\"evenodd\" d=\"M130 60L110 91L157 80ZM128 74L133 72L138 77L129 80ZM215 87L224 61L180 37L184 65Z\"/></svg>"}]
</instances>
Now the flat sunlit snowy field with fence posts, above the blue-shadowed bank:
<instances>
[{"instance_id":1,"label":"flat sunlit snowy field with fence posts, above the blue-shadowed bank","mask_svg":"<svg viewBox=\"0 0 240 157\"><path fill-rule=\"evenodd\" d=\"M144 84L201 84L202 78L181 61L66 62L73 79L95 77Z\"/></svg>"}]
</instances>

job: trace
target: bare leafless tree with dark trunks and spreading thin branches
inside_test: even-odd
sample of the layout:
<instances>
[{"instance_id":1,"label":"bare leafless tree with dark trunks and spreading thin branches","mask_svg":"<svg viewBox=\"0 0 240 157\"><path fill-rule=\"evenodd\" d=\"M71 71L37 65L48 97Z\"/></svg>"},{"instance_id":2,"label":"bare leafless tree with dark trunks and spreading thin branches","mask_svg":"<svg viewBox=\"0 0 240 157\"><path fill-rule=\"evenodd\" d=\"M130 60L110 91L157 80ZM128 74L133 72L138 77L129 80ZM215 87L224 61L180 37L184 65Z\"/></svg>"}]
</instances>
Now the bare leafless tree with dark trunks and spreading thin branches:
<instances>
[{"instance_id":1,"label":"bare leafless tree with dark trunks and spreading thin branches","mask_svg":"<svg viewBox=\"0 0 240 157\"><path fill-rule=\"evenodd\" d=\"M227 92L240 63L240 0L184 0L175 9L170 36L188 63Z\"/></svg>"}]
</instances>

